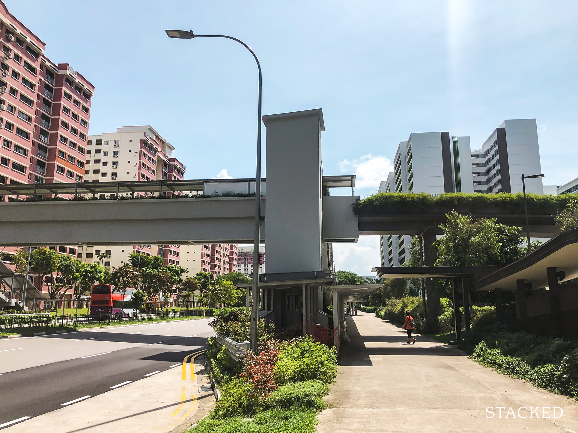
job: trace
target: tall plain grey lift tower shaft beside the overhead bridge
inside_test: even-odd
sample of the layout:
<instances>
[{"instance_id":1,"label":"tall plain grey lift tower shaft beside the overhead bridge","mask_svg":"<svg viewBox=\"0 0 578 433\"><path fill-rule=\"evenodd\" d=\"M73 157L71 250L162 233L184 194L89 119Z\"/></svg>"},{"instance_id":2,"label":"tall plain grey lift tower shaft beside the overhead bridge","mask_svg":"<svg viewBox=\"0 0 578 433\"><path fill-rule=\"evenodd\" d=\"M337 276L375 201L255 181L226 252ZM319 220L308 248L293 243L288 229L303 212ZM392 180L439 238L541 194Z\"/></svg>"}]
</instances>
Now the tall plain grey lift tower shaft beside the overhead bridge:
<instances>
[{"instance_id":1,"label":"tall plain grey lift tower shaft beside the overhead bridge","mask_svg":"<svg viewBox=\"0 0 578 433\"><path fill-rule=\"evenodd\" d=\"M320 109L263 117L268 273L321 270Z\"/></svg>"}]
</instances>

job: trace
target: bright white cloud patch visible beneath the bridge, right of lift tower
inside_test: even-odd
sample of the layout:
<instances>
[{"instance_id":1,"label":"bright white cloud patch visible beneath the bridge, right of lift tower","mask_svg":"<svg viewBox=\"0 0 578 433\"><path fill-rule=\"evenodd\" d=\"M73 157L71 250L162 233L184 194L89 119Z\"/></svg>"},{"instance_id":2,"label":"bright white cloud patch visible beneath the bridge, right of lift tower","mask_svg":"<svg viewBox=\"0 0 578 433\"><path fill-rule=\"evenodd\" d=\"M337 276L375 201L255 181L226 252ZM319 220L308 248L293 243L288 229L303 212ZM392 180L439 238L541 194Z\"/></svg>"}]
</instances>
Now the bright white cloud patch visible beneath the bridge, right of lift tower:
<instances>
[{"instance_id":1,"label":"bright white cloud patch visible beneath the bridge, right of lift tower","mask_svg":"<svg viewBox=\"0 0 578 433\"><path fill-rule=\"evenodd\" d=\"M379 236L360 236L357 244L333 244L333 259L337 271L375 277L371 268L381 266Z\"/></svg>"}]
</instances>

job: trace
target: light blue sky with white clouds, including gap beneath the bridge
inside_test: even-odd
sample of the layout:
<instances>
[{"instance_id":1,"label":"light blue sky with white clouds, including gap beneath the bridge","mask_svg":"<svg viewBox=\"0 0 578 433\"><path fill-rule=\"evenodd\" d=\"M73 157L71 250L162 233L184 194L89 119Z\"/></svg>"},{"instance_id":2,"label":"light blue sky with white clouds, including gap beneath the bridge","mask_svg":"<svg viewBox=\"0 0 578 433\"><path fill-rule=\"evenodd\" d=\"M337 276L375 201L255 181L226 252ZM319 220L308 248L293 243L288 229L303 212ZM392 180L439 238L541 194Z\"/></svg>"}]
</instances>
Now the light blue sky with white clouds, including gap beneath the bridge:
<instances>
[{"instance_id":1,"label":"light blue sky with white clouds, including gap beneath the bridge","mask_svg":"<svg viewBox=\"0 0 578 433\"><path fill-rule=\"evenodd\" d=\"M412 132L469 135L536 118L544 184L578 177L578 3L573 1L5 0L96 86L90 133L153 125L187 178L254 176L257 72L224 39L173 40L165 28L225 33L261 61L263 113L321 107L325 174L376 191ZM30 13L30 11L33 11ZM375 238L336 247L369 274Z\"/></svg>"}]
</instances>

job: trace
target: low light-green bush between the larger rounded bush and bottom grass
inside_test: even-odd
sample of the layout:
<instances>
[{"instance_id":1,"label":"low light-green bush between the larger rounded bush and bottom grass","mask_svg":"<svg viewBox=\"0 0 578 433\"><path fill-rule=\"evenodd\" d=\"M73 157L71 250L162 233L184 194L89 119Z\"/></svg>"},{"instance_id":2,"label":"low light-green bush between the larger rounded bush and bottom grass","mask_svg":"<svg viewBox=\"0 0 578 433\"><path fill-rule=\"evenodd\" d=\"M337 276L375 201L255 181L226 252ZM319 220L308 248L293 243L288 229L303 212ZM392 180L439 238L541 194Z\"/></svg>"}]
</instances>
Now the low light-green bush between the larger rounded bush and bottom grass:
<instances>
[{"instance_id":1,"label":"low light-green bush between the larger rounded bush and bottom grass","mask_svg":"<svg viewBox=\"0 0 578 433\"><path fill-rule=\"evenodd\" d=\"M265 400L265 408L289 409L292 406L302 406L321 410L325 408L321 397L328 394L329 387L321 380L288 383L269 394Z\"/></svg>"}]
</instances>

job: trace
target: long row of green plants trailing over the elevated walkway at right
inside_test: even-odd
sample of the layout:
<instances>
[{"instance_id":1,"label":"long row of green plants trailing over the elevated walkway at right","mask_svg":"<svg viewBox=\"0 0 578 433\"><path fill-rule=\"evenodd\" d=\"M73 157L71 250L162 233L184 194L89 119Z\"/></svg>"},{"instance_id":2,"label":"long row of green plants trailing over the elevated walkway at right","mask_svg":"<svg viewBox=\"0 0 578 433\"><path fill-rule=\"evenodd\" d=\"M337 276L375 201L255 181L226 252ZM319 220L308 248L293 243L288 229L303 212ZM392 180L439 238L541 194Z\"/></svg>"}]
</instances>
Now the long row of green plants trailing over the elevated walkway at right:
<instances>
[{"instance_id":1,"label":"long row of green plants trailing over the elevated walkway at right","mask_svg":"<svg viewBox=\"0 0 578 433\"><path fill-rule=\"evenodd\" d=\"M555 215L564 210L578 197L570 194L560 196L527 194L528 213L536 215ZM499 208L508 214L524 214L524 196L517 194L464 194L445 193L437 197L420 193L377 193L353 205L355 215L379 214L418 214L459 210L466 213L487 212L488 208ZM460 212L461 213L461 212Z\"/></svg>"}]
</instances>

